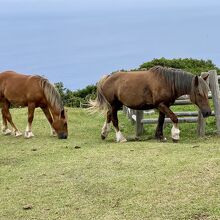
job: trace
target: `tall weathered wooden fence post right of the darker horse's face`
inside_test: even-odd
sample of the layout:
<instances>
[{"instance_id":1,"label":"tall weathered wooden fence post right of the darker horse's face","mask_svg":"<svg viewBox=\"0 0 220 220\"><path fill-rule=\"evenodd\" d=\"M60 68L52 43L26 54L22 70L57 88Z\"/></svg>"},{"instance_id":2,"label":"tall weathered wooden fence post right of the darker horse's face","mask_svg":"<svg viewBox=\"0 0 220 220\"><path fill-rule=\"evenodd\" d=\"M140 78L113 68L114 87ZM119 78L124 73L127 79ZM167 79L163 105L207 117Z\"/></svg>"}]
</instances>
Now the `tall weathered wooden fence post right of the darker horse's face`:
<instances>
[{"instance_id":1,"label":"tall weathered wooden fence post right of the darker horse's face","mask_svg":"<svg viewBox=\"0 0 220 220\"><path fill-rule=\"evenodd\" d=\"M209 85L212 92L212 100L214 104L214 112L217 126L217 133L220 135L220 92L218 84L218 76L216 70L209 71Z\"/></svg>"}]
</instances>

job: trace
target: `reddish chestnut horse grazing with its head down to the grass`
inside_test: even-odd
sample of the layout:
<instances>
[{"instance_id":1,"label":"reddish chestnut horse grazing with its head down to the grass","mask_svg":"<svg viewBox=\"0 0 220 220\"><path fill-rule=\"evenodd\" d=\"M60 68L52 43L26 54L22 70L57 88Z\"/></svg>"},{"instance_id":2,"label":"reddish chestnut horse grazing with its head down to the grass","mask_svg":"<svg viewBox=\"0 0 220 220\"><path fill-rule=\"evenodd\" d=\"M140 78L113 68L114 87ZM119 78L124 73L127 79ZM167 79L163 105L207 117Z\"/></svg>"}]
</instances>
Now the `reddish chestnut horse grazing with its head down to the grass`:
<instances>
[{"instance_id":1,"label":"reddish chestnut horse grazing with its head down to the grass","mask_svg":"<svg viewBox=\"0 0 220 220\"><path fill-rule=\"evenodd\" d=\"M28 124L24 136L30 138L33 135L31 125L34 118L34 110L40 107L46 115L52 129L52 134L60 139L68 136L67 120L60 94L49 81L41 76L18 74L12 71L0 74L0 103L2 104L2 131L11 134L7 121L13 128L15 136L21 133L12 121L9 112L10 104L28 107Z\"/></svg>"}]
</instances>

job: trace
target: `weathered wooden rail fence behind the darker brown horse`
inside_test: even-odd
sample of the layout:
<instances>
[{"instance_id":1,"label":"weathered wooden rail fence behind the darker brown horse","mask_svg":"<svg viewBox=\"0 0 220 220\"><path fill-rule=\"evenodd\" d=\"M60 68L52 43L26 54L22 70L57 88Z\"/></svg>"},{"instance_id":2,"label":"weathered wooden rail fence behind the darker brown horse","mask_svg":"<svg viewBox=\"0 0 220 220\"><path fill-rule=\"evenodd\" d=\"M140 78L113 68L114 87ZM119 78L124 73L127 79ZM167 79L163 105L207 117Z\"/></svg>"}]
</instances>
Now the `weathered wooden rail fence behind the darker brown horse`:
<instances>
[{"instance_id":1,"label":"weathered wooden rail fence behind the darker brown horse","mask_svg":"<svg viewBox=\"0 0 220 220\"><path fill-rule=\"evenodd\" d=\"M209 72L209 99L213 100L214 111L212 116L216 118L217 133L220 135L220 91L219 83L220 76L217 75L216 70L210 70ZM201 75L207 73L203 72ZM178 98L174 105L191 105L188 96L181 96ZM136 136L140 136L144 130L144 124L156 124L158 122L157 118L144 118L144 114L149 114L149 111L133 110L126 106L123 107L124 112L127 114L128 118L135 124ZM152 111L152 110L151 110ZM200 111L198 112L174 112L178 116L179 123L196 123L197 122L197 133L199 136L205 135L205 119L203 118ZM170 118L165 118L165 123L171 123Z\"/></svg>"}]
</instances>

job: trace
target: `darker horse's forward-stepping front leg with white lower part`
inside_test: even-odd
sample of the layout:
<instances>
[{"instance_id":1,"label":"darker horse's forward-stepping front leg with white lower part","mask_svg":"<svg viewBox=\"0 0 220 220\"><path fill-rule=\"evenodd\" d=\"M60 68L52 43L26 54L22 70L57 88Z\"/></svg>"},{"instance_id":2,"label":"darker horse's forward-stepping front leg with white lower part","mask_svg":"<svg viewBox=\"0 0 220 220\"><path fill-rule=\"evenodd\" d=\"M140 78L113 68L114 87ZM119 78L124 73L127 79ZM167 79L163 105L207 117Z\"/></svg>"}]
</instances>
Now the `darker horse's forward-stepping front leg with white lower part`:
<instances>
[{"instance_id":1,"label":"darker horse's forward-stepping front leg with white lower part","mask_svg":"<svg viewBox=\"0 0 220 220\"><path fill-rule=\"evenodd\" d=\"M178 142L180 139L180 130L178 126L178 118L177 116L163 103L161 103L158 106L158 109L163 112L165 115L167 115L171 121L173 122L173 127L171 129L171 137L173 139L173 142Z\"/></svg>"}]
</instances>

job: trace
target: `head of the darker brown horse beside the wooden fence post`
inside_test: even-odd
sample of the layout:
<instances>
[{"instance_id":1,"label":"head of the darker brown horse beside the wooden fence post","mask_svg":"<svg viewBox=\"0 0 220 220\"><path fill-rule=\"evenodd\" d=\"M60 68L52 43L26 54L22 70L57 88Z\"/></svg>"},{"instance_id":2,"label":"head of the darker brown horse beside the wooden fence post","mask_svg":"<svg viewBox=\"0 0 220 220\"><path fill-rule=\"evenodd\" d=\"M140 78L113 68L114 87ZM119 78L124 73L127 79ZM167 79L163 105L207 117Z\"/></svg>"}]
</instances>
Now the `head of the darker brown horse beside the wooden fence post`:
<instances>
[{"instance_id":1,"label":"head of the darker brown horse beside the wooden fence post","mask_svg":"<svg viewBox=\"0 0 220 220\"><path fill-rule=\"evenodd\" d=\"M212 112L208 100L209 87L206 82L207 79L208 76L195 76L192 81L192 90L190 94L191 102L200 108L203 117L210 116Z\"/></svg>"}]
</instances>

